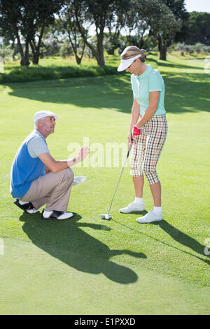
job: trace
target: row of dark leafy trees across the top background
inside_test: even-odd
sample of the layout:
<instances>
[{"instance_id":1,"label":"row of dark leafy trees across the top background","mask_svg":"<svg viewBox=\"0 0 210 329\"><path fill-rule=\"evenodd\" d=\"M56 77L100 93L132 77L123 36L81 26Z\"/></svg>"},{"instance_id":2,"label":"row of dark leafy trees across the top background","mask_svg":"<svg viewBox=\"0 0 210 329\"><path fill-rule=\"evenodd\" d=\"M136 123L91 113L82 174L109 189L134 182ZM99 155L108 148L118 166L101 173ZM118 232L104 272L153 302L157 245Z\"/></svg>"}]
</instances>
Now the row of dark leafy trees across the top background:
<instances>
[{"instance_id":1,"label":"row of dark leafy trees across the top background","mask_svg":"<svg viewBox=\"0 0 210 329\"><path fill-rule=\"evenodd\" d=\"M65 36L78 64L85 49L103 66L104 47L113 54L132 43L158 45L165 60L174 42L210 45L210 14L188 13L185 0L0 0L0 34L6 44L17 43L22 65L29 65L29 50L38 64L50 26Z\"/></svg>"}]
</instances>

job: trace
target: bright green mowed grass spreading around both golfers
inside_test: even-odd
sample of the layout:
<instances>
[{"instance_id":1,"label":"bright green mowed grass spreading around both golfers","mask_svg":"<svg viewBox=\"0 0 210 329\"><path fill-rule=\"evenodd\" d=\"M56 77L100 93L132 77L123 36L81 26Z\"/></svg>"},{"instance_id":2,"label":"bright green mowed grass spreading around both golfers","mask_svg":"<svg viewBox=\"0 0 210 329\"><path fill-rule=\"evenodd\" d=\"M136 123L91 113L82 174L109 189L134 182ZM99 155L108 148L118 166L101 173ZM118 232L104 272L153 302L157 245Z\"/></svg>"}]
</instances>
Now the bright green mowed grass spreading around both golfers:
<instances>
[{"instance_id":1,"label":"bright green mowed grass spreading around both golfers","mask_svg":"<svg viewBox=\"0 0 210 329\"><path fill-rule=\"evenodd\" d=\"M204 63L169 55L158 62L165 78L169 133L158 163L164 221L140 225L153 209L120 214L134 200L129 167L107 167L109 143L127 143L130 76L73 78L1 85L0 314L209 314L209 74ZM59 115L48 137L57 159L89 144L75 176L64 222L41 221L13 205L10 165L33 129L34 112ZM103 152L104 153L103 153ZM113 156L112 156L113 161ZM2 250L2 248L1 248ZM207 248L206 248L207 251Z\"/></svg>"}]
</instances>

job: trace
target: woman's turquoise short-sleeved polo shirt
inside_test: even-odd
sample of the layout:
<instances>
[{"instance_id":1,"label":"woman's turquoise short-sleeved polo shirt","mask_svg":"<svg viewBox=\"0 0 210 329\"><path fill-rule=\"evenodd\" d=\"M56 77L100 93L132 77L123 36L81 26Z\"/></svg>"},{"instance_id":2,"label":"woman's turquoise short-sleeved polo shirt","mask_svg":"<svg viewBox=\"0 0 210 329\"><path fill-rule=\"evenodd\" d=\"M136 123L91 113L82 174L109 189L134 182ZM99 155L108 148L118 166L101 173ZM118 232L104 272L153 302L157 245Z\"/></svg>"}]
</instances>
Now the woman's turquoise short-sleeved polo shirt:
<instances>
[{"instance_id":1,"label":"woman's turquoise short-sleeved polo shirt","mask_svg":"<svg viewBox=\"0 0 210 329\"><path fill-rule=\"evenodd\" d=\"M144 112L149 106L149 92L160 91L160 97L158 102L158 108L155 111L155 116L165 114L165 84L161 74L152 68L151 65L147 65L147 69L141 76L131 76L132 90L134 98L140 105L140 115L143 116Z\"/></svg>"}]
</instances>

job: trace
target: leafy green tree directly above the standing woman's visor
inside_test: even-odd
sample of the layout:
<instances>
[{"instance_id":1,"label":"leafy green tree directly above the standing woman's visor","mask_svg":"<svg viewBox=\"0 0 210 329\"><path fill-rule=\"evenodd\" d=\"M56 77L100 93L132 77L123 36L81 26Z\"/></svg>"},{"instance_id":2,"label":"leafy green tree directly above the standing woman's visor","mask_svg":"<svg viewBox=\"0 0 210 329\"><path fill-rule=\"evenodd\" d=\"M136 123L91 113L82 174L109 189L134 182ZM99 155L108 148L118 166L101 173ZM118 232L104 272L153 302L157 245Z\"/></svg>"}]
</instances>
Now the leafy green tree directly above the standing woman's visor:
<instances>
[{"instance_id":1,"label":"leafy green tree directly above the standing woman's visor","mask_svg":"<svg viewBox=\"0 0 210 329\"><path fill-rule=\"evenodd\" d=\"M166 59L167 48L181 30L184 0L130 0L126 14L127 44L139 48L158 43L160 59ZM170 8L171 7L171 8Z\"/></svg>"}]
</instances>

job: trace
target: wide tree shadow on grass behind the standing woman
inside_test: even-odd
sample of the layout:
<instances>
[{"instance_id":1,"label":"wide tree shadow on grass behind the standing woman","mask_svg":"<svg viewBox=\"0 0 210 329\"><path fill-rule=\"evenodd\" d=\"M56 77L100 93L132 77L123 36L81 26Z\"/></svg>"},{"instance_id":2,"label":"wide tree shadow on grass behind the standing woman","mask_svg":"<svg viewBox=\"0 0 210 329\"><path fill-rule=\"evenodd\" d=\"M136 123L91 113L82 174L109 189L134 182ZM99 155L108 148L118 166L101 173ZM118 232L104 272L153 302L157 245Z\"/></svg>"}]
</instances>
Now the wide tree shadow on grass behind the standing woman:
<instances>
[{"instance_id":1,"label":"wide tree shadow on grass behind the standing woman","mask_svg":"<svg viewBox=\"0 0 210 329\"><path fill-rule=\"evenodd\" d=\"M210 111L208 74L172 72L163 73L163 76L167 113ZM130 75L126 73L118 76L14 83L8 86L11 88L10 96L23 99L71 104L88 110L111 109L131 113L132 87Z\"/></svg>"}]
</instances>

